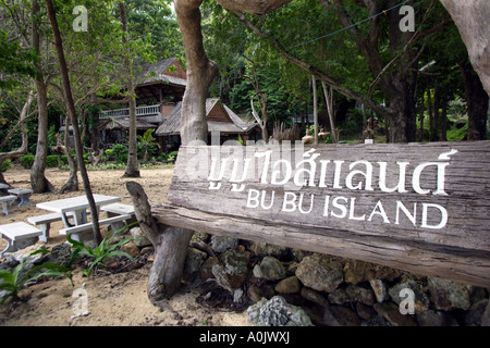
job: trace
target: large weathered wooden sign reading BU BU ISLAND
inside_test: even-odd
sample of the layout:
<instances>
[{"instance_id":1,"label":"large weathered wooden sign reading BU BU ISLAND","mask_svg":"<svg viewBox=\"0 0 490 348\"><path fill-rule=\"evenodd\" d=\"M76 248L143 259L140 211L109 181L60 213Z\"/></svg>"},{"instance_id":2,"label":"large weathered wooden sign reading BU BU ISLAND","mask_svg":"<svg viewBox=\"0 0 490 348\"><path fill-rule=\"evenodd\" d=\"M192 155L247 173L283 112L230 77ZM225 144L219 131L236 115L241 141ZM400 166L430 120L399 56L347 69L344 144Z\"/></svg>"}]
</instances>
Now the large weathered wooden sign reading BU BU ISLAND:
<instances>
[{"instance_id":1,"label":"large weathered wooden sign reading BU BU ISLAND","mask_svg":"<svg viewBox=\"0 0 490 348\"><path fill-rule=\"evenodd\" d=\"M490 141L182 147L170 225L490 286Z\"/></svg>"}]
</instances>

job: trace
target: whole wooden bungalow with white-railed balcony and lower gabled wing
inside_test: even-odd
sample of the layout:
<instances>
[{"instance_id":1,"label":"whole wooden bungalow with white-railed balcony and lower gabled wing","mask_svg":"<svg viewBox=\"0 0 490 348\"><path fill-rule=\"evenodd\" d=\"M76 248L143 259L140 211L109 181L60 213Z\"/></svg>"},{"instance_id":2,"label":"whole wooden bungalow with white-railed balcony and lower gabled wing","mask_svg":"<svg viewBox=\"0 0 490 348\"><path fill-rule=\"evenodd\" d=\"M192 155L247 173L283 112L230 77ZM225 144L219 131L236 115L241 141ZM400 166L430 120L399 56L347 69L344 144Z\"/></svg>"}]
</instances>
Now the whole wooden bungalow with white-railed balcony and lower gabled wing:
<instances>
[{"instance_id":1,"label":"whole wooden bungalow with white-railed balcony and lower gabled wing","mask_svg":"<svg viewBox=\"0 0 490 348\"><path fill-rule=\"evenodd\" d=\"M176 58L160 60L137 67L136 117L137 133L154 128L157 141L163 151L177 149L181 126L182 98L186 87L186 71ZM209 134L219 134L223 144L237 139L257 139L258 125L243 121L217 98L206 102ZM130 109L103 110L99 112L98 129L102 144L122 142L128 132ZM210 141L210 137L209 137Z\"/></svg>"}]
</instances>

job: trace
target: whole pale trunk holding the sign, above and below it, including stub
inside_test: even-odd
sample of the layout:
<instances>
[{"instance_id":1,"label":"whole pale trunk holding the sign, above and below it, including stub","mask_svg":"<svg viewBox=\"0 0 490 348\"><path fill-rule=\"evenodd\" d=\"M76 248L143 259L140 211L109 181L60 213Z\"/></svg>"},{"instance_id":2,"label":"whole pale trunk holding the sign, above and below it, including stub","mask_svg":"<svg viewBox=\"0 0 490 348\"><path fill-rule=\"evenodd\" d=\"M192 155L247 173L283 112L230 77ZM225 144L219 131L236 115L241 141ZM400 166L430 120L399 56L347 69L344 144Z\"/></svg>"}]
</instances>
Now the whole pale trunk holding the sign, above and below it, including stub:
<instances>
[{"instance_id":1,"label":"whole pale trunk holding the sign, above and below it, including stub","mask_svg":"<svg viewBox=\"0 0 490 348\"><path fill-rule=\"evenodd\" d=\"M181 115L183 145L207 142L206 97L218 72L216 63L207 58L203 46L199 11L201 2L203 0L174 2L187 59L187 86ZM194 232L157 226L143 188L136 187L137 185L127 183L136 217L155 247L155 262L148 279L148 298L155 306L162 307L161 300L172 297L181 285L187 247Z\"/></svg>"}]
</instances>

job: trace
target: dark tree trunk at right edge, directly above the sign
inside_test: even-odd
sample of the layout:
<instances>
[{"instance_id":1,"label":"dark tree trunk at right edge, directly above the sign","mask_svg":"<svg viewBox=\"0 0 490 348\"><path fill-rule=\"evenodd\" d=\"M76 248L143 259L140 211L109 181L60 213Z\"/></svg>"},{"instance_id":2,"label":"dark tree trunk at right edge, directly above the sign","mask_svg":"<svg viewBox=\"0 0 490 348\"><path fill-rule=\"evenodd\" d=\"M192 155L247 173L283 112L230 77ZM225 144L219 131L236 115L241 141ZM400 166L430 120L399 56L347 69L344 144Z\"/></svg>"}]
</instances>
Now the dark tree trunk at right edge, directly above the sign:
<instances>
[{"instance_id":1,"label":"dark tree trunk at right edge, directly above the sign","mask_svg":"<svg viewBox=\"0 0 490 348\"><path fill-rule=\"evenodd\" d=\"M468 62L458 62L468 108L468 140L487 138L488 94Z\"/></svg>"}]
</instances>

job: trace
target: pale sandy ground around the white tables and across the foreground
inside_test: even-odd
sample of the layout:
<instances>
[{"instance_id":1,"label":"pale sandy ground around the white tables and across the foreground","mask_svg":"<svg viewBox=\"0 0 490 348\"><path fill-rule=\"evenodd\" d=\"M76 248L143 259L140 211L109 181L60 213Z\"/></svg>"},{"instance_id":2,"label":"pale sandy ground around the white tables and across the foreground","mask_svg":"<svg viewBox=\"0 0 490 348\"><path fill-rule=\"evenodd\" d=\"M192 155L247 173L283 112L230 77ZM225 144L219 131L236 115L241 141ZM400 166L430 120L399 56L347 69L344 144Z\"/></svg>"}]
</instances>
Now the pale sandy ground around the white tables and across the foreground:
<instances>
[{"instance_id":1,"label":"pale sandy ground around the white tables and across the foreground","mask_svg":"<svg viewBox=\"0 0 490 348\"><path fill-rule=\"evenodd\" d=\"M136 181L144 188L151 202L166 201L167 190L171 183L173 167L140 170L139 178L123 178L123 171L89 171L89 179L94 194L119 196L123 203L132 203L125 188L127 181ZM29 188L29 171L22 166L14 166L4 174L5 181L15 188ZM46 176L61 188L68 178L68 171L47 169ZM34 204L48 200L84 195L82 178L79 191L64 195L40 194L33 195ZM0 214L0 224L26 221L28 216L48 213L35 206L13 207L8 216ZM50 240L47 247L65 241L65 237L58 234L62 223L53 223L50 229ZM7 246L0 240L0 250ZM151 262L131 272L111 275L83 277L75 272L74 286L68 278L49 279L24 288L21 297L28 299L21 304L0 307L0 325L91 325L91 326L125 326L125 325L248 325L246 312L224 312L204 307L196 302L199 295L197 289L182 289L167 301L164 309L154 307L147 297L146 286ZM83 287L87 295L86 316L72 318L76 297L74 290Z\"/></svg>"}]
</instances>

